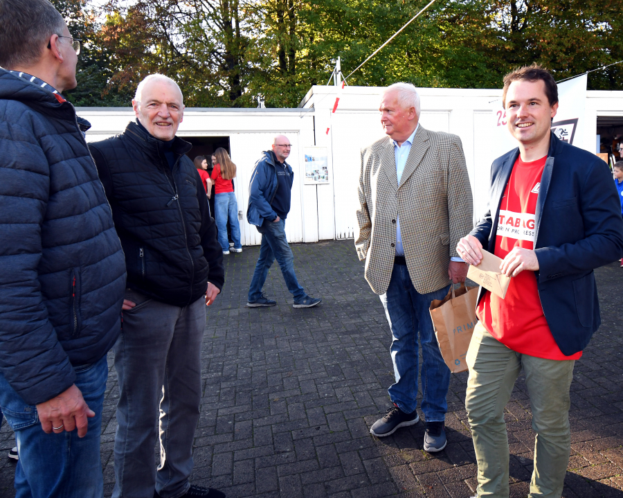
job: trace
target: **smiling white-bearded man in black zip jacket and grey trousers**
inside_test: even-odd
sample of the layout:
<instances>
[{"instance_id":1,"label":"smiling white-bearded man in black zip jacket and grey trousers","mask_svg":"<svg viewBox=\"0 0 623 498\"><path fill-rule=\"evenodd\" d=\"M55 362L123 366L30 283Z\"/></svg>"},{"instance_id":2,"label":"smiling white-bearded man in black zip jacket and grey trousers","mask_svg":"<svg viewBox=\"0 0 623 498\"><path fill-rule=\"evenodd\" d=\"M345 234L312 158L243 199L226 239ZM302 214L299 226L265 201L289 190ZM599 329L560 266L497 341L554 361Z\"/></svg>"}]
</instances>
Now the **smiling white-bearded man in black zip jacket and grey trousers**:
<instances>
[{"instance_id":1,"label":"smiling white-bearded man in black zip jacket and grey trousers","mask_svg":"<svg viewBox=\"0 0 623 498\"><path fill-rule=\"evenodd\" d=\"M136 123L89 145L127 268L123 330L114 346L120 396L113 497L223 497L188 480L206 305L223 287L222 249L201 178L186 157L191 145L175 136L184 108L177 83L147 76L132 106Z\"/></svg>"}]
</instances>

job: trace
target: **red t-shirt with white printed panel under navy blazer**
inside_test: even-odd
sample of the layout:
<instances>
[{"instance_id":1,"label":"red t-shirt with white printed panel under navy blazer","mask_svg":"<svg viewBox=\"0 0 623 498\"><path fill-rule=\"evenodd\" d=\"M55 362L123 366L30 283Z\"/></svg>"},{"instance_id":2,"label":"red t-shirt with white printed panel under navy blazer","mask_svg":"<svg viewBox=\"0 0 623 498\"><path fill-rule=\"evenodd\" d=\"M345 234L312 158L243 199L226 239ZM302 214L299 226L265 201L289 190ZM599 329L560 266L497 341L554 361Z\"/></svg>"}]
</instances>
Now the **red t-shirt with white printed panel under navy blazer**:
<instances>
[{"instance_id":1,"label":"red t-shirt with white printed panel under navy blazer","mask_svg":"<svg viewBox=\"0 0 623 498\"><path fill-rule=\"evenodd\" d=\"M498 258L504 259L513 247L534 249L536 198L547 156L514 164L500 204L496 233ZM565 356L554 341L543 314L536 275L524 270L511 278L505 299L487 292L476 311L489 333L517 353L547 359L578 359L582 352Z\"/></svg>"}]
</instances>

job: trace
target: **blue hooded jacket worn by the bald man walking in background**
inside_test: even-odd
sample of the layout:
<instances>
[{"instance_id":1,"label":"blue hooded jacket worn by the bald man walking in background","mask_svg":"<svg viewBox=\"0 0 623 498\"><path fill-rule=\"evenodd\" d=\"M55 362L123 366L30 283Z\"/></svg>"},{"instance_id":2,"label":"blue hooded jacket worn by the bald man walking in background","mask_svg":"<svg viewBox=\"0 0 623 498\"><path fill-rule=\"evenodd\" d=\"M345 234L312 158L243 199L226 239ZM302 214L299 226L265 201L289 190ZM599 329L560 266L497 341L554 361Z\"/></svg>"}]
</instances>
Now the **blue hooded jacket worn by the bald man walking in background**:
<instances>
[{"instance_id":1,"label":"blue hooded jacket worn by the bald man walking in background","mask_svg":"<svg viewBox=\"0 0 623 498\"><path fill-rule=\"evenodd\" d=\"M294 179L294 172L286 162L283 166ZM262 152L262 157L255 163L249 181L249 206L246 209L246 220L255 226L262 226L264 220L273 221L277 213L271 203L277 194L277 166L273 152Z\"/></svg>"}]
</instances>

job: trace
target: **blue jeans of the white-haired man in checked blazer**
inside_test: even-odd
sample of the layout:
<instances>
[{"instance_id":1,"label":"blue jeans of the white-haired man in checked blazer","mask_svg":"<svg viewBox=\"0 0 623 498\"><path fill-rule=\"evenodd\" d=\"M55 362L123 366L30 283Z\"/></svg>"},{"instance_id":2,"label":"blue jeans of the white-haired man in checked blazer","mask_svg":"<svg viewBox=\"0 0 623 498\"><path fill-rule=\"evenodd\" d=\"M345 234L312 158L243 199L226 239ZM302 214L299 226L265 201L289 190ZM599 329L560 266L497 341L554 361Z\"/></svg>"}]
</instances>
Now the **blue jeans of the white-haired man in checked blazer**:
<instances>
[{"instance_id":1,"label":"blue jeans of the white-haired man in checked blazer","mask_svg":"<svg viewBox=\"0 0 623 498\"><path fill-rule=\"evenodd\" d=\"M390 353L395 384L388 389L392 402L405 413L417 408L417 335L422 345L422 412L427 422L445 420L450 370L439 350L428 308L433 299L443 299L450 286L419 294L411 283L406 265L394 265L387 292L381 296L392 331Z\"/></svg>"}]
</instances>

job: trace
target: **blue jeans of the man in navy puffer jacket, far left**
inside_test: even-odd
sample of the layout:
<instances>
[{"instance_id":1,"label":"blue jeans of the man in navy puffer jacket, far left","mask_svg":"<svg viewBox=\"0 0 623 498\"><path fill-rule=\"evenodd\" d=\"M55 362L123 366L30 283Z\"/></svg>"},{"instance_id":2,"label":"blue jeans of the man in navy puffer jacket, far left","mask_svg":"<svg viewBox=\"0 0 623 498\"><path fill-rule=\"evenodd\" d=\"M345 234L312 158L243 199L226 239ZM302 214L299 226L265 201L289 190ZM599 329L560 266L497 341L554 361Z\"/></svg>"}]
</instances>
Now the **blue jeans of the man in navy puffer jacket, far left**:
<instances>
[{"instance_id":1,"label":"blue jeans of the man in navy puffer jacket, far left","mask_svg":"<svg viewBox=\"0 0 623 498\"><path fill-rule=\"evenodd\" d=\"M28 406L0 374L0 406L15 431L19 460L15 469L16 498L101 498L104 479L100 461L102 408L108 378L106 357L75 369L75 385L95 411L84 438L78 431L46 434L37 408Z\"/></svg>"}]
</instances>

